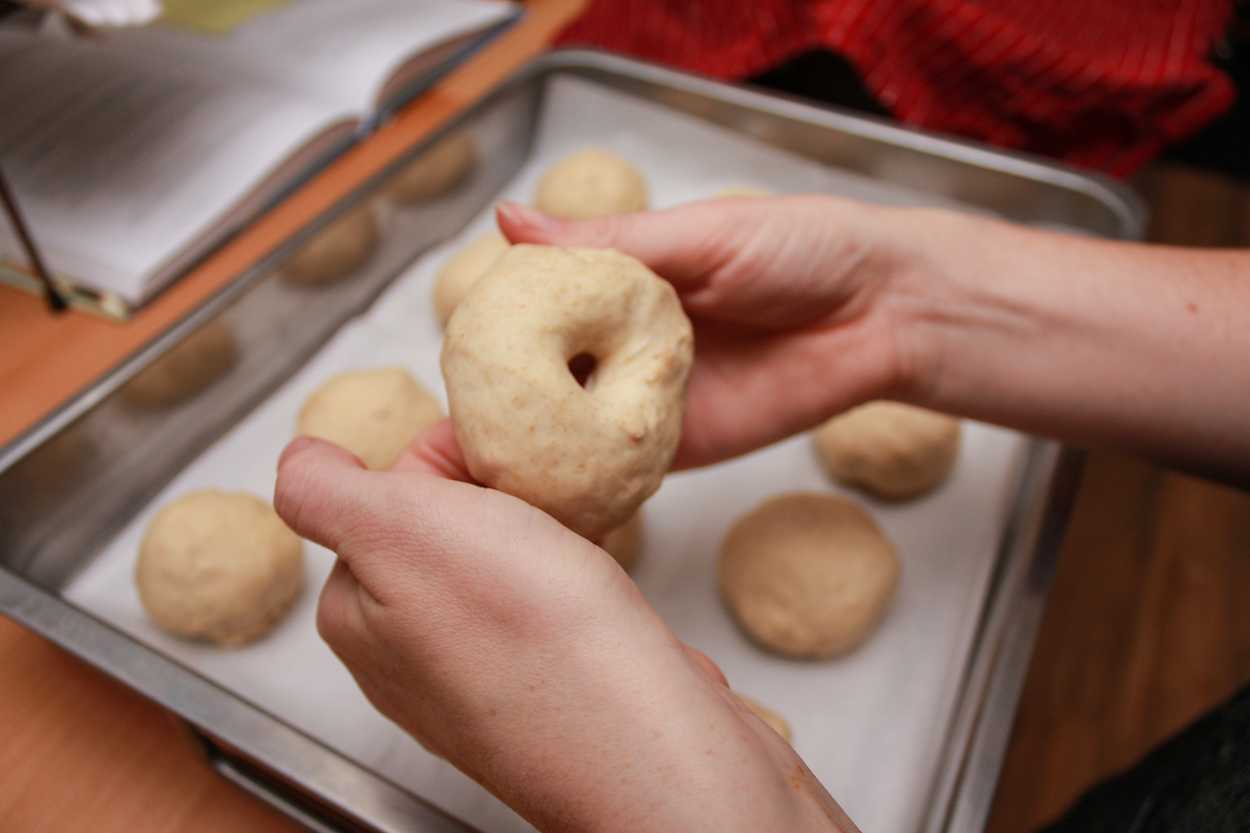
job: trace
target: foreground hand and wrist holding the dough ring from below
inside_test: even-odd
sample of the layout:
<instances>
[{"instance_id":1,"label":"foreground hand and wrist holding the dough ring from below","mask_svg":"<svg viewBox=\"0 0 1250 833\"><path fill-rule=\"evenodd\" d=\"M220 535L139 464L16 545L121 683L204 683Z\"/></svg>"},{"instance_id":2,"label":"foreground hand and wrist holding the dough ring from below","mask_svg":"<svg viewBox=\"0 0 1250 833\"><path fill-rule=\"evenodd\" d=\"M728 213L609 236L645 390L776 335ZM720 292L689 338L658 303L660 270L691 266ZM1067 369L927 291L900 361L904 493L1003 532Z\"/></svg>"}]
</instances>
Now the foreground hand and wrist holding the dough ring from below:
<instances>
[{"instance_id":1,"label":"foreground hand and wrist holding the dough ring from below","mask_svg":"<svg viewBox=\"0 0 1250 833\"><path fill-rule=\"evenodd\" d=\"M318 629L370 702L544 833L855 829L611 557L469 483L448 422L390 472L298 438L274 505L339 555Z\"/></svg>"}]
</instances>

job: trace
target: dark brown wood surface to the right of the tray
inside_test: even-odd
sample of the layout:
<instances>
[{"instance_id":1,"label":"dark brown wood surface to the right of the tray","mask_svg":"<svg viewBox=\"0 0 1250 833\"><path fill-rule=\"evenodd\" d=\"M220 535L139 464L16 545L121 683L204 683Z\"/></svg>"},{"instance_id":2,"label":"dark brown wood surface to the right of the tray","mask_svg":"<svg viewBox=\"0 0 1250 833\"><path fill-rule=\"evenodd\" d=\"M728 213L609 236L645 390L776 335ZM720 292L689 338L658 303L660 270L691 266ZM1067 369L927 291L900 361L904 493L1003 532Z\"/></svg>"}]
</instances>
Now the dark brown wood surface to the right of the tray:
<instances>
[{"instance_id":1,"label":"dark brown wood surface to the right of the tray","mask_svg":"<svg viewBox=\"0 0 1250 833\"><path fill-rule=\"evenodd\" d=\"M1135 185L1151 240L1250 245L1250 186L1170 166ZM1250 683L1248 582L1250 494L1091 454L989 829L1038 829Z\"/></svg>"}]
</instances>

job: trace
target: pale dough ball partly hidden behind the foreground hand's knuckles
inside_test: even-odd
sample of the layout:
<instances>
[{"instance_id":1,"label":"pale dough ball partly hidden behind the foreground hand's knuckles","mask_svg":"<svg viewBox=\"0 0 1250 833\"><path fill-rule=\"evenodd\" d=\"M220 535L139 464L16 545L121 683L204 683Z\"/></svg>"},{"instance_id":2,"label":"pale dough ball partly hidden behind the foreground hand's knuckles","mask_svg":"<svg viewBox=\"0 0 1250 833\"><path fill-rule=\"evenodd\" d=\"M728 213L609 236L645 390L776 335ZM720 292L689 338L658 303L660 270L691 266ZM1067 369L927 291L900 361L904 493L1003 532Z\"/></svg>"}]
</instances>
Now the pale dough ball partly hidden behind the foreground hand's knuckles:
<instances>
[{"instance_id":1,"label":"pale dough ball partly hidden behind the foreground hand's knuckles","mask_svg":"<svg viewBox=\"0 0 1250 833\"><path fill-rule=\"evenodd\" d=\"M402 368L330 376L300 409L299 433L389 469L412 439L442 419L439 400Z\"/></svg>"}]
</instances>

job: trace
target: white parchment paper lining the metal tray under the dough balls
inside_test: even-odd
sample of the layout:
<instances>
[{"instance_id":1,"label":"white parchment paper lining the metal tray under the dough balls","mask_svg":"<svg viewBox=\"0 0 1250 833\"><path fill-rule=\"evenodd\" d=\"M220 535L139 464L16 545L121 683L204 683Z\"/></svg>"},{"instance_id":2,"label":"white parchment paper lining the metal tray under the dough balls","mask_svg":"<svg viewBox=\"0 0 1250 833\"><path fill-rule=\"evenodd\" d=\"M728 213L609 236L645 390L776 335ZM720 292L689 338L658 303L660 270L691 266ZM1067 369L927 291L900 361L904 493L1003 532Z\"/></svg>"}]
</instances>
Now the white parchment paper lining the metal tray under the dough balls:
<instances>
[{"instance_id":1,"label":"white parchment paper lining the metal tray under the dough balls","mask_svg":"<svg viewBox=\"0 0 1250 833\"><path fill-rule=\"evenodd\" d=\"M534 156L504 195L528 200L546 165L591 144L639 164L656 206L729 185L900 204L939 201L822 169L572 80L551 84ZM491 223L490 211L484 211L458 239L414 263L362 319L344 328L300 374L184 470L65 595L481 830L506 833L531 828L374 712L321 644L314 608L330 553L308 545L309 590L270 637L236 650L164 635L145 619L132 584L139 540L159 507L201 488L271 494L274 464L299 408L328 375L402 365L442 394L441 333L429 303L434 273ZM646 547L634 573L646 598L679 637L721 664L735 688L790 720L800 754L865 830L908 833L925 818L1025 450L1026 439L1018 434L969 423L954 475L936 493L906 504L861 498L899 548L902 583L881 629L859 652L835 662L795 663L760 652L730 620L715 585L721 537L740 514L780 492L838 490L821 474L808 438L671 475L646 504Z\"/></svg>"}]
</instances>

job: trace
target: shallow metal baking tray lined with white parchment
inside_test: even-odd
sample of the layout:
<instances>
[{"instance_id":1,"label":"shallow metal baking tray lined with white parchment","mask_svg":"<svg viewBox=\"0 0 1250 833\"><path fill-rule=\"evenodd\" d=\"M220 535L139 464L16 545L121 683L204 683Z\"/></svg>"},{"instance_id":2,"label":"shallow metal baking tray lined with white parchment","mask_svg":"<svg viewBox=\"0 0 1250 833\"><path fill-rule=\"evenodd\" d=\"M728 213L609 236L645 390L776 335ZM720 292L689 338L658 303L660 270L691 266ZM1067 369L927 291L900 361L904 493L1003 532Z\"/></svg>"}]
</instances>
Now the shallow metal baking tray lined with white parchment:
<instances>
[{"instance_id":1,"label":"shallow metal baking tray lined with white parchment","mask_svg":"<svg viewBox=\"0 0 1250 833\"><path fill-rule=\"evenodd\" d=\"M274 637L240 652L188 645L155 632L130 584L138 537L154 507L190 488L268 494L272 462L302 396L335 369L405 364L441 391L439 331L429 309L432 271L489 223L495 196L528 199L548 163L596 144L634 159L660 206L754 184L899 204L955 204L1116 236L1134 236L1140 228L1132 200L1099 180L602 56L544 59L451 130L474 135L480 170L462 193L438 205L385 208L386 249L366 274L324 294L292 294L258 273L255 286L236 290L250 290L248 296L222 298L210 310L234 319L252 345L245 365L260 356L250 375L236 369L234 386L215 391L215 405L201 401L159 423L146 416L146 425L132 414L129 423L122 419L126 411L111 389L164 346L152 345L98 389L95 410L80 403L80 413L71 406L59 416L65 425L54 420L36 430L24 440L28 449L19 443L22 452L51 438L41 454L29 455L24 465L12 449L0 458L0 469L10 469L0 477L0 497L18 495L22 477L55 480L49 449L58 442L72 445L79 437L92 449L125 448L168 434L164 443L176 453L165 465L140 462L124 469L128 483L140 482L130 489L118 487L120 478L105 479L118 465L110 469L98 455L94 489L66 489L64 495L44 489L66 502L42 507L24 498L41 512L28 515L34 523L25 537L0 538L9 570L0 573L0 607L219 738L219 748L229 748L220 760L231 777L270 798L279 792L316 795L314 810L298 809L291 803L298 798L281 799L306 820L312 818L308 813L321 818L334 808L378 829L456 829L414 799L420 795L486 833L526 829L372 713L318 642L311 594ZM356 201L372 199L384 179L364 188ZM275 303L295 304L309 315L316 338L301 339L288 329L275 339ZM355 323L341 326L356 313ZM235 390L246 381L252 389ZM239 395L230 396L232 390ZM180 430L175 418L184 422ZM802 438L670 477L646 508L648 548L635 577L680 637L718 659L738 688L786 714L799 752L866 829L968 829L988 807L1040 612L1048 555L1040 544L1061 522L1061 502L1050 489L1056 459L1050 444L969 424L956 473L939 493L911 504L871 504L900 547L902 589L881 632L835 663L796 664L760 653L736 632L715 594L716 545L740 512L780 490L832 488ZM88 513L76 524L91 532L82 540L58 529L54 507L65 512L75 499L95 507L106 484L118 493L115 503L125 499L109 507L108 523L100 518L91 529ZM329 555L311 547L309 555L315 584L329 569ZM280 678L270 673L275 657L282 660ZM318 684L291 684L299 679Z\"/></svg>"}]
</instances>

